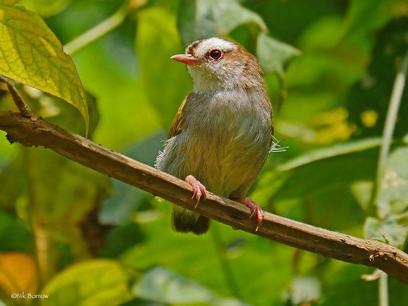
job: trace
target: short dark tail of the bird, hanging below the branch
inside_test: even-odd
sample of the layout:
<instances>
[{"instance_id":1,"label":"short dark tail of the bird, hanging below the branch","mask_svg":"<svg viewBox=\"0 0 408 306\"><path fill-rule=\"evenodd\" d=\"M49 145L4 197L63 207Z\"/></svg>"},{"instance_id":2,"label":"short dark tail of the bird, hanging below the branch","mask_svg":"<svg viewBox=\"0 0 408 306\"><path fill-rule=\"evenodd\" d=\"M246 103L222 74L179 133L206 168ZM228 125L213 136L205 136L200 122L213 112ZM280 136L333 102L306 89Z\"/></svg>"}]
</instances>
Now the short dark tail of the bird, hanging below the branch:
<instances>
[{"instance_id":1,"label":"short dark tail of the bird, hanging below the branch","mask_svg":"<svg viewBox=\"0 0 408 306\"><path fill-rule=\"evenodd\" d=\"M180 233L194 233L202 235L208 232L210 228L210 219L193 212L173 209L171 215L173 229Z\"/></svg>"}]
</instances>

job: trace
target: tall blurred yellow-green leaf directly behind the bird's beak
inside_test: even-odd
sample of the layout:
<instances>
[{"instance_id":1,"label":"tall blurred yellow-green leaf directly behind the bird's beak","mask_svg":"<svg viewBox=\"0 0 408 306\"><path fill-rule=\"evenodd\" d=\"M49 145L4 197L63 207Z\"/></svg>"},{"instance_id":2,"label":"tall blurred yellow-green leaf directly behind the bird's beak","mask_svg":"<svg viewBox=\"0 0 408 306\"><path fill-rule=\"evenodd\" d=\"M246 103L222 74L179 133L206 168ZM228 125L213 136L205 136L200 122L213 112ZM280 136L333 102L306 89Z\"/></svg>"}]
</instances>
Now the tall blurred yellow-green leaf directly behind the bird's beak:
<instances>
[{"instance_id":1,"label":"tall blurred yellow-green leaf directly behind the bird's beak","mask_svg":"<svg viewBox=\"0 0 408 306\"><path fill-rule=\"evenodd\" d=\"M157 7L141 11L138 15L136 50L147 98L156 109L162 125L168 129L183 99L193 88L186 67L170 59L175 54L183 53L175 18ZM183 86L189 83L190 86Z\"/></svg>"}]
</instances>

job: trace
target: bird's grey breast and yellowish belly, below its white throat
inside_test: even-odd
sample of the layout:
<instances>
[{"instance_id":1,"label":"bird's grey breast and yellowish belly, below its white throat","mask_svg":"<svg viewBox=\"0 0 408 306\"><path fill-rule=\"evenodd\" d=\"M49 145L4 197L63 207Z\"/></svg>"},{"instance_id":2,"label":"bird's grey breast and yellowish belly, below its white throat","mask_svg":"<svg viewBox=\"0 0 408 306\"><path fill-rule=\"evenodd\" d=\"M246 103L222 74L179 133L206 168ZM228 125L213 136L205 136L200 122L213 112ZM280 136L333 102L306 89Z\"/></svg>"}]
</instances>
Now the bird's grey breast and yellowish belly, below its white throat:
<instances>
[{"instance_id":1,"label":"bird's grey breast and yellowish belly, below its white throat","mask_svg":"<svg viewBox=\"0 0 408 306\"><path fill-rule=\"evenodd\" d=\"M260 106L261 98L242 92L189 95L179 141L185 145L188 171L209 190L224 196L239 188L246 193L261 170L271 124L270 109ZM241 187L245 182L247 188Z\"/></svg>"}]
</instances>

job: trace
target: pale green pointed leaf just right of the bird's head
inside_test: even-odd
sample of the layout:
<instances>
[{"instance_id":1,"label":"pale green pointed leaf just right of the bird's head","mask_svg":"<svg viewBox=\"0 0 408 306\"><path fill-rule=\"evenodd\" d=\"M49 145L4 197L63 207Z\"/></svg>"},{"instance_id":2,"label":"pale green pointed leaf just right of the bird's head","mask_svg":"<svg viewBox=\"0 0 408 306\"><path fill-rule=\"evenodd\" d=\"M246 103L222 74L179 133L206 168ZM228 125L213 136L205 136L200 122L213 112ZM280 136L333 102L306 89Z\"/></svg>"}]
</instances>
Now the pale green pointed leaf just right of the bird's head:
<instances>
[{"instance_id":1,"label":"pale green pointed leaf just right of the bird's head","mask_svg":"<svg viewBox=\"0 0 408 306\"><path fill-rule=\"evenodd\" d=\"M276 72L283 77L285 64L299 56L300 51L261 32L258 36L257 55L265 72Z\"/></svg>"}]
</instances>

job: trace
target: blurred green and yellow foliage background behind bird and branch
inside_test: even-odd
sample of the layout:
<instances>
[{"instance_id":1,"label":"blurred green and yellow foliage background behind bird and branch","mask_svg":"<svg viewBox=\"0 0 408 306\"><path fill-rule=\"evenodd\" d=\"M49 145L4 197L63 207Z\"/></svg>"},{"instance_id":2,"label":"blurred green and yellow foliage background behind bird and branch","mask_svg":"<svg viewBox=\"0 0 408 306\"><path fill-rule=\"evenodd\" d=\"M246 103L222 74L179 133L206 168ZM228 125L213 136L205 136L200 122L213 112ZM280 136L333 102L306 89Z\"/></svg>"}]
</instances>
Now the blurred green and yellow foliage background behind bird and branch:
<instances>
[{"instance_id":1,"label":"blurred green and yellow foliage background behind bird and branch","mask_svg":"<svg viewBox=\"0 0 408 306\"><path fill-rule=\"evenodd\" d=\"M250 196L266 211L407 251L407 90L385 176L376 185L393 83L408 49L405 0L19 5L38 12L68 44L87 91L88 136L148 165L192 89L186 67L170 56L203 37L239 42L260 59L275 137L287 147L270 154ZM112 15L116 19L108 19ZM72 47L97 24L101 33L112 29L100 38L92 32L88 44ZM0 89L0 109L13 109ZM73 107L25 86L19 90L38 115L84 135ZM207 235L176 234L169 207L154 196L45 148L10 145L2 131L0 136L0 304L378 303L377 282L362 279L373 268L216 222ZM391 305L408 304L406 285L389 279L388 287ZM49 297L10 298L21 292Z\"/></svg>"}]
</instances>

